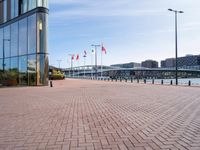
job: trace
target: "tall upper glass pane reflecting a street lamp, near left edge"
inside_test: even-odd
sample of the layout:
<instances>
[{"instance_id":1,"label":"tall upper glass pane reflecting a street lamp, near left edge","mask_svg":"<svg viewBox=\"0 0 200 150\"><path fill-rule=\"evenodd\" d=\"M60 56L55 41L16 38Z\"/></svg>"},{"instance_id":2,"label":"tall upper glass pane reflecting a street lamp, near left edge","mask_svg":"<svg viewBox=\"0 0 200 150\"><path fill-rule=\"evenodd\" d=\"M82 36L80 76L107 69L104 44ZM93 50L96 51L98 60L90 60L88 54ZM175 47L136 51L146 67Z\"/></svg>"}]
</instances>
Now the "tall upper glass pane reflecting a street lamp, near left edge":
<instances>
[{"instance_id":1,"label":"tall upper glass pane reflecting a street lamp, near left edge","mask_svg":"<svg viewBox=\"0 0 200 150\"><path fill-rule=\"evenodd\" d=\"M10 57L10 26L4 28L4 52L5 57Z\"/></svg>"}]
</instances>

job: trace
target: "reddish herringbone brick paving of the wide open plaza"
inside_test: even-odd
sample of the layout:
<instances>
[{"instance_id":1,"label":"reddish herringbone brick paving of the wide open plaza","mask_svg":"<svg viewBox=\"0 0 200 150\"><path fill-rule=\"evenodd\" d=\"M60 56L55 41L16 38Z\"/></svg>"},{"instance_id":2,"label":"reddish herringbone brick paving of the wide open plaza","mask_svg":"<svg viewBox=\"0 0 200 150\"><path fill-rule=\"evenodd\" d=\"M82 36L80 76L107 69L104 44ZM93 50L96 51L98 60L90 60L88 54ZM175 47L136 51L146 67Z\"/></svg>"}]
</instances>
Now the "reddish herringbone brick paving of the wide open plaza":
<instances>
[{"instance_id":1,"label":"reddish herringbone brick paving of the wide open plaza","mask_svg":"<svg viewBox=\"0 0 200 150\"><path fill-rule=\"evenodd\" d=\"M200 88L65 80L0 89L0 149L200 150Z\"/></svg>"}]
</instances>

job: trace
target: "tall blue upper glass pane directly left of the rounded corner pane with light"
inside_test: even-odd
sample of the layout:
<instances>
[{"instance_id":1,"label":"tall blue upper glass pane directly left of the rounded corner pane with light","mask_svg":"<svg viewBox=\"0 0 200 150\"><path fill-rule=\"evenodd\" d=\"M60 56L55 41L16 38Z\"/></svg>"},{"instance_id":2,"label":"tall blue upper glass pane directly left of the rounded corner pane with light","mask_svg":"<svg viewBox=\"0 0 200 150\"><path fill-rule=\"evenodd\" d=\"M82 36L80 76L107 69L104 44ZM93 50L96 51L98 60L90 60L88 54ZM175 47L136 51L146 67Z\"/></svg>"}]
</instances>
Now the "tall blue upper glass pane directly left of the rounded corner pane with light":
<instances>
[{"instance_id":1,"label":"tall blue upper glass pane directly left of the rounded corner pane with light","mask_svg":"<svg viewBox=\"0 0 200 150\"><path fill-rule=\"evenodd\" d=\"M28 53L36 53L36 15L28 18Z\"/></svg>"}]
</instances>

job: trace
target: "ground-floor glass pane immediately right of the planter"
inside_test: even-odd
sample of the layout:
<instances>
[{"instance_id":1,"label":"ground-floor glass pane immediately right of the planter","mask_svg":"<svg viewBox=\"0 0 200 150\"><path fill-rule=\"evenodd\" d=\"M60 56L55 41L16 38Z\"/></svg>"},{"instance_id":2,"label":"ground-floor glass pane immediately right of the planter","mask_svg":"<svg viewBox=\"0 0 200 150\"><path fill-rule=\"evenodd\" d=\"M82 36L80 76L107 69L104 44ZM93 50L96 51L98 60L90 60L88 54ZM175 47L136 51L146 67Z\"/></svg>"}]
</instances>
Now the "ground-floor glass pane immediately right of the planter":
<instances>
[{"instance_id":1,"label":"ground-floor glass pane immediately right of the planter","mask_svg":"<svg viewBox=\"0 0 200 150\"><path fill-rule=\"evenodd\" d=\"M19 84L20 85L28 84L27 56L19 57Z\"/></svg>"}]
</instances>

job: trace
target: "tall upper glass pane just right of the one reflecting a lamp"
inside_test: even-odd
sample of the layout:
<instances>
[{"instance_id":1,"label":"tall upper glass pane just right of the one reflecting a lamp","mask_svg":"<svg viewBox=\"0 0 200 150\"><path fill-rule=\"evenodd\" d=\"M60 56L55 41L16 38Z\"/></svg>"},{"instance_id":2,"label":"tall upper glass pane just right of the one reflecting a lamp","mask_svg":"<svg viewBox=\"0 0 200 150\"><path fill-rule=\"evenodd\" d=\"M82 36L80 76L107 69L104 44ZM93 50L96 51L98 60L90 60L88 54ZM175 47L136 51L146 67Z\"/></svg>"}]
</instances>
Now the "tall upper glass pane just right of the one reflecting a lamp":
<instances>
[{"instance_id":1,"label":"tall upper glass pane just right of the one reflecting a lamp","mask_svg":"<svg viewBox=\"0 0 200 150\"><path fill-rule=\"evenodd\" d=\"M11 56L18 55L18 22L11 25Z\"/></svg>"}]
</instances>

